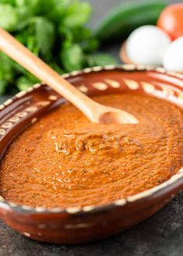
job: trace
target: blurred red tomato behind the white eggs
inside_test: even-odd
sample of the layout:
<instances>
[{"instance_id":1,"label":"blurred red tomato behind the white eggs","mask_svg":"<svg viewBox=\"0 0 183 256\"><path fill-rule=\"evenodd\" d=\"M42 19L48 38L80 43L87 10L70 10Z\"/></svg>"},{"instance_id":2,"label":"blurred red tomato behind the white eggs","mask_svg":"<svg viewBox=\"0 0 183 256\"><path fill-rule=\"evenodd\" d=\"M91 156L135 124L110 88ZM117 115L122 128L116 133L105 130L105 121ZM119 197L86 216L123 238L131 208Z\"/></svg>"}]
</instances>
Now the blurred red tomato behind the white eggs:
<instances>
[{"instance_id":1,"label":"blurred red tomato behind the white eggs","mask_svg":"<svg viewBox=\"0 0 183 256\"><path fill-rule=\"evenodd\" d=\"M171 36L172 40L183 36L183 3L167 6L161 12L157 26Z\"/></svg>"}]
</instances>

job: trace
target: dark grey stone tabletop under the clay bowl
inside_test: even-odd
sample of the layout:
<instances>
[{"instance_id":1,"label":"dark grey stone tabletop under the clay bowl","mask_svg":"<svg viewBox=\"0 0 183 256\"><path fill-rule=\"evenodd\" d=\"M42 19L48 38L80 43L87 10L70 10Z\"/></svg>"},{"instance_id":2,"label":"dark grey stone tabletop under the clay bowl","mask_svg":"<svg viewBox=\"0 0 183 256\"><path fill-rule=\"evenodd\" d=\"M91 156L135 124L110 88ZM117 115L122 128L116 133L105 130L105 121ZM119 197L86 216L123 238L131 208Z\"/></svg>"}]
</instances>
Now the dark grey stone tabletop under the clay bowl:
<instances>
[{"instance_id":1,"label":"dark grey stone tabletop under the clay bowl","mask_svg":"<svg viewBox=\"0 0 183 256\"><path fill-rule=\"evenodd\" d=\"M90 0L95 15L91 26L120 0ZM176 1L170 1L176 2ZM116 56L119 46L109 50ZM4 99L0 99L2 102ZM183 193L161 211L123 234L79 246L28 240L0 221L0 256L181 256L183 255Z\"/></svg>"}]
</instances>

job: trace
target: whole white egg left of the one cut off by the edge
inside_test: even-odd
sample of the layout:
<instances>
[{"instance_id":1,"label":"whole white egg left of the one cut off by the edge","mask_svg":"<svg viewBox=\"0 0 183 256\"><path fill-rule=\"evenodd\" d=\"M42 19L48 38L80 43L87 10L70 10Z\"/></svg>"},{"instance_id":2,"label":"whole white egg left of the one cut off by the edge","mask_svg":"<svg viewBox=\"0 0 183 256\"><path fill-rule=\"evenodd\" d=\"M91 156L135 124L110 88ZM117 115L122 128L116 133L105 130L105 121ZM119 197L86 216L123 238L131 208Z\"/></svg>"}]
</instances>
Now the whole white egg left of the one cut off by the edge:
<instances>
[{"instance_id":1,"label":"whole white egg left of the one cut off by the edge","mask_svg":"<svg viewBox=\"0 0 183 256\"><path fill-rule=\"evenodd\" d=\"M126 40L126 55L136 64L161 65L170 43L171 38L157 26L140 26Z\"/></svg>"}]
</instances>

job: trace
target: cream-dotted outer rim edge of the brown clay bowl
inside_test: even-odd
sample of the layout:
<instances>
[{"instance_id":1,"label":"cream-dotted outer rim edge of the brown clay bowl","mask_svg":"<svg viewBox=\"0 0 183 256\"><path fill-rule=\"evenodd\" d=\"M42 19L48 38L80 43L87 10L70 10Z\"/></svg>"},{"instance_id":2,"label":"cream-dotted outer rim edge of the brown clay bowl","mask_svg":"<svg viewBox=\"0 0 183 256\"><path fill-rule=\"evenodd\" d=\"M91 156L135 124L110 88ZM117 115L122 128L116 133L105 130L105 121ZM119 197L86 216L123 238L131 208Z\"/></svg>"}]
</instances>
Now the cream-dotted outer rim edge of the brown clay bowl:
<instances>
[{"instance_id":1,"label":"cream-dotted outer rim edge of the brown clay bowl","mask_svg":"<svg viewBox=\"0 0 183 256\"><path fill-rule=\"evenodd\" d=\"M106 66L95 66L95 67L86 67L85 69L79 71L71 71L66 74L62 74L63 78L72 78L77 76L78 74L86 74L92 72L99 72L99 71L155 71L161 74L167 74L174 76L175 78L179 78L183 81L183 74L179 74L176 72L166 71L163 67L150 67L141 64L116 64L116 65L106 65ZM36 88L40 88L40 86L44 85L43 83L38 83L33 85L31 91ZM16 95L19 95L19 98L26 94L26 92L30 92L29 88L27 91L21 91ZM12 102L15 100L15 96L12 98L7 99L2 105L0 105L0 111L5 109L7 106L11 105ZM9 102L9 104L6 104ZM20 213L67 213L68 215L79 214L79 213L102 213L103 211L108 211L109 209L115 209L116 207L124 207L129 203L133 202L142 202L144 199L150 200L152 197L159 194L159 192L164 193L166 189L174 189L174 185L180 182L182 179L183 181L183 167L171 178L167 181L161 183L161 185L154 186L151 189L147 189L143 192L137 193L135 195L130 195L127 198L117 199L113 202L106 203L101 206L75 206L75 207L67 207L67 208L46 208L46 207L33 207L28 205L19 205L15 202L9 202L8 200L4 199L2 195L0 195L0 209L5 210L12 210Z\"/></svg>"}]
</instances>

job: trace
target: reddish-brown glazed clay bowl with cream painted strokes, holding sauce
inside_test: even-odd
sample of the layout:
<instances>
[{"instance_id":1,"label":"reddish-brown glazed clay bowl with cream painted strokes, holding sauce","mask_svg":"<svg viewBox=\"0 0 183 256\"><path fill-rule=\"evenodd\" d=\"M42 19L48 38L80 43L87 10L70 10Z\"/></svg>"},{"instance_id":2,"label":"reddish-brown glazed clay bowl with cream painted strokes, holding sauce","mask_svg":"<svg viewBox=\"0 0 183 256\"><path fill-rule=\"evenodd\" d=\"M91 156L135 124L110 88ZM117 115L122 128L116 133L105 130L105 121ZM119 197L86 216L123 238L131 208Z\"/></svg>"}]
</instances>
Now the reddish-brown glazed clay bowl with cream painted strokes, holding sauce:
<instances>
[{"instance_id":1,"label":"reddish-brown glazed clay bowl with cream painted strokes, holding sauce","mask_svg":"<svg viewBox=\"0 0 183 256\"><path fill-rule=\"evenodd\" d=\"M88 95L131 92L154 95L183 108L183 76L162 68L93 67L64 74ZM0 154L14 137L41 116L64 103L47 85L34 85L0 106ZM78 244L117 234L147 219L183 189L183 168L153 189L105 206L44 209L18 206L0 196L0 216L14 230L34 240Z\"/></svg>"}]
</instances>

